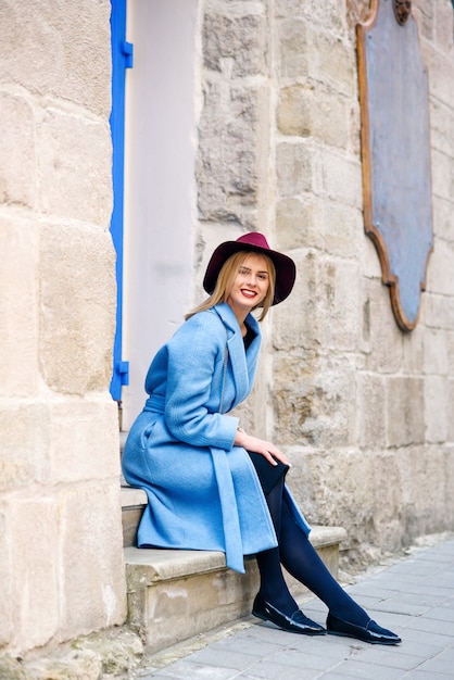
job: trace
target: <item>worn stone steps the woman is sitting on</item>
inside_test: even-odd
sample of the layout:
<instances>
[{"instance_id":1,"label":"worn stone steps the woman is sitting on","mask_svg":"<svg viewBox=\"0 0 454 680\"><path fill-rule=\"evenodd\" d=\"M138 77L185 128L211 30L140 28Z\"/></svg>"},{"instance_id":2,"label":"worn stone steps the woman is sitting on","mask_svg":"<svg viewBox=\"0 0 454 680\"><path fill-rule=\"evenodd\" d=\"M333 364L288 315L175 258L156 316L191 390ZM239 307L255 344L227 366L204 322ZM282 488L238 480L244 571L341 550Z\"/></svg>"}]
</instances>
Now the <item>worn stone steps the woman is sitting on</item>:
<instances>
[{"instance_id":1,"label":"worn stone steps the woman is sitting on","mask_svg":"<svg viewBox=\"0 0 454 680\"><path fill-rule=\"evenodd\" d=\"M122 486L122 516L128 599L128 624L149 654L251 614L258 588L254 558L245 575L228 569L224 553L143 550L135 546L137 527L147 504L139 489ZM340 527L313 527L311 542L333 576L339 545L346 538ZM288 577L292 593L307 591Z\"/></svg>"}]
</instances>

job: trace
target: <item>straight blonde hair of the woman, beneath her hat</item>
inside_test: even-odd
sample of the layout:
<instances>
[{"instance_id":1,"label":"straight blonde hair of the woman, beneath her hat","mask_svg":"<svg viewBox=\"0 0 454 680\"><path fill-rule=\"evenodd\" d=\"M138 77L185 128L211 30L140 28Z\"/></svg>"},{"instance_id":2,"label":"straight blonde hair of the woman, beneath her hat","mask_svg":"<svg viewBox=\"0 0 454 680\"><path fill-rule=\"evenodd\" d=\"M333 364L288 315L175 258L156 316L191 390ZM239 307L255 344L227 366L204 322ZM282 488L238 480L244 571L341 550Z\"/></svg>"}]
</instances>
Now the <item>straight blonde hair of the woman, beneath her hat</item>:
<instances>
[{"instance_id":1,"label":"straight blonde hair of the woman, beneath her hat","mask_svg":"<svg viewBox=\"0 0 454 680\"><path fill-rule=\"evenodd\" d=\"M219 302L227 302L227 298L230 293L231 287L235 281L235 277L238 274L239 267L243 264L243 262L248 259L249 255L260 255L266 261L268 265L268 275L269 275L269 286L266 292L265 299L260 302L256 307L262 308L262 314L258 317L260 322L263 322L265 316L268 313L269 307L273 304L273 300L275 297L275 286L276 286L276 268L274 262L268 255L265 253L257 253L253 250L240 250L237 253L234 253L228 257L223 264L220 272L217 277L216 287L210 298L199 304L194 310L186 314L185 319L191 318L194 314L199 312L205 312L206 310L211 310L215 304L219 304Z\"/></svg>"}]
</instances>

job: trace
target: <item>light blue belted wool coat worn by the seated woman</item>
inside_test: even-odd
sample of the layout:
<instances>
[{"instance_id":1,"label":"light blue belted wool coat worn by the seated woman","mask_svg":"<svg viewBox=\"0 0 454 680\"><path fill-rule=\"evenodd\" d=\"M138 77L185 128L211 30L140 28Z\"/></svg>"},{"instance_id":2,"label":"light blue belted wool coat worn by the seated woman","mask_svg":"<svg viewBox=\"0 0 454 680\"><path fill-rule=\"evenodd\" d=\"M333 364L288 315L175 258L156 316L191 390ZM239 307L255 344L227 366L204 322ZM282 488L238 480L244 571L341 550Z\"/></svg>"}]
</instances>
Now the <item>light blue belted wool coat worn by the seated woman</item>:
<instances>
[{"instance_id":1,"label":"light blue belted wool coat worn by the seated woman","mask_svg":"<svg viewBox=\"0 0 454 680\"><path fill-rule=\"evenodd\" d=\"M255 469L234 446L239 420L226 415L254 382L262 335L252 315L247 323L256 332L247 352L228 304L196 314L161 348L122 458L126 480L148 495L139 546L223 551L242 574L243 555L277 545Z\"/></svg>"}]
</instances>

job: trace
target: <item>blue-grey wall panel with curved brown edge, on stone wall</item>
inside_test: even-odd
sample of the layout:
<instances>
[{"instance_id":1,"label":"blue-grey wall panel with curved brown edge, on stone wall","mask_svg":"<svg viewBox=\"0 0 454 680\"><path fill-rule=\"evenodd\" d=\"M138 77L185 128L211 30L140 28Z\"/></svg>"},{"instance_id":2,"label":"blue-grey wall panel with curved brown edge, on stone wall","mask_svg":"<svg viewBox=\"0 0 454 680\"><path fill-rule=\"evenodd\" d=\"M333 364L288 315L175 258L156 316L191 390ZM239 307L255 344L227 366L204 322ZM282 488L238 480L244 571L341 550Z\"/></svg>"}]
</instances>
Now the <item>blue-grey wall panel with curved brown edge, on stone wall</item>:
<instances>
[{"instance_id":1,"label":"blue-grey wall panel with curved brown edge, on stone wall","mask_svg":"<svg viewBox=\"0 0 454 680\"><path fill-rule=\"evenodd\" d=\"M428 83L411 2L373 0L356 34L365 231L409 331L433 247Z\"/></svg>"}]
</instances>

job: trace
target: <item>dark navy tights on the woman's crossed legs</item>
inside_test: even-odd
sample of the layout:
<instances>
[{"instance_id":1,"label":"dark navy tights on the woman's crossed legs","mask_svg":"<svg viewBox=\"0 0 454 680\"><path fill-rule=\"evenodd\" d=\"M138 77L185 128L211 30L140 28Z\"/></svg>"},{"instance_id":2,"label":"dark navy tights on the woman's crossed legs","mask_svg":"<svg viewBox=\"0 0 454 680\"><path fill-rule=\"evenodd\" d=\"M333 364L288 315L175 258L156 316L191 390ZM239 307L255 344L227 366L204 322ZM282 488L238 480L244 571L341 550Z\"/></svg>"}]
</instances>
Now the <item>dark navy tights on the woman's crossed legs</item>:
<instances>
[{"instance_id":1,"label":"dark navy tights on the woman's crossed legs","mask_svg":"<svg viewBox=\"0 0 454 680\"><path fill-rule=\"evenodd\" d=\"M364 626L369 616L330 575L304 531L295 522L283 494L283 477L265 496L279 545L257 553L261 595L291 616L299 607L287 588L281 564L317 595L337 618Z\"/></svg>"}]
</instances>

